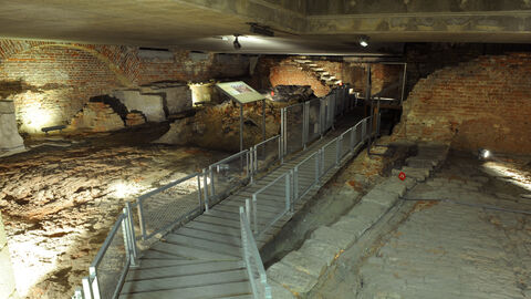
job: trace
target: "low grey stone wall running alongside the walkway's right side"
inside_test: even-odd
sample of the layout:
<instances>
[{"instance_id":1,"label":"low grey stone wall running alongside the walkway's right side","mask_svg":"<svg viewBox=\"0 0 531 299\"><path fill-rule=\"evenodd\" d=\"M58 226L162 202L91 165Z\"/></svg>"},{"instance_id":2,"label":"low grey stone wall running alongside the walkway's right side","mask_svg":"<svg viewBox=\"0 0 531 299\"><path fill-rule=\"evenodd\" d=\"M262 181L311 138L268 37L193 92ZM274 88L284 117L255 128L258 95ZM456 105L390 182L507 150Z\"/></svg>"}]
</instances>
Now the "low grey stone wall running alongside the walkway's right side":
<instances>
[{"instance_id":1,"label":"low grey stone wall running alongside the walkway's right side","mask_svg":"<svg viewBox=\"0 0 531 299\"><path fill-rule=\"evenodd\" d=\"M267 270L273 298L294 299L309 293L343 251L373 227L407 190L424 182L446 159L448 147L419 145L418 155L407 166L393 169L392 176L364 195L348 213L330 226L315 229L300 249L291 251ZM406 173L400 181L398 173Z\"/></svg>"}]
</instances>

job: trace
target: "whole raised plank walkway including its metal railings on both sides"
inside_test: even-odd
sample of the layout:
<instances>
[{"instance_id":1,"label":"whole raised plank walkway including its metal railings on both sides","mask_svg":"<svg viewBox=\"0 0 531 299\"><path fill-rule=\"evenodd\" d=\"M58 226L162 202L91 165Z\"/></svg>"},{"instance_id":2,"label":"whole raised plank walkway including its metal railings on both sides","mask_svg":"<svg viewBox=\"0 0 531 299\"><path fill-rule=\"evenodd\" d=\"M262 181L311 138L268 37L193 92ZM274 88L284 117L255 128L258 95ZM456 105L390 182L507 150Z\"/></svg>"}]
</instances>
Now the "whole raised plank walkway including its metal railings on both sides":
<instances>
[{"instance_id":1,"label":"whole raised plank walkway including its metal railings on both sides","mask_svg":"<svg viewBox=\"0 0 531 299\"><path fill-rule=\"evenodd\" d=\"M259 250L379 127L344 117L312 136L333 127L337 99L346 113L345 94L317 99L312 124L306 102L293 130L287 107L280 136L127 204L74 298L271 298Z\"/></svg>"}]
</instances>

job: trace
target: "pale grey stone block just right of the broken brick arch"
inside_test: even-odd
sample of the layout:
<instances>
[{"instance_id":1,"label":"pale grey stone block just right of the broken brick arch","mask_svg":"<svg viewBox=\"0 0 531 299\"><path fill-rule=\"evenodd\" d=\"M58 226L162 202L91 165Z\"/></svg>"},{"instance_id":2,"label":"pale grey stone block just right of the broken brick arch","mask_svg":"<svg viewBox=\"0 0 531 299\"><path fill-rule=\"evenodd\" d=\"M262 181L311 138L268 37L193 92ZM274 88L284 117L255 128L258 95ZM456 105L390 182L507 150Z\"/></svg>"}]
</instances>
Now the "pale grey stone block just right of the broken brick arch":
<instances>
[{"instance_id":1,"label":"pale grey stone block just right of the broken brick arch","mask_svg":"<svg viewBox=\"0 0 531 299\"><path fill-rule=\"evenodd\" d=\"M166 121L164 99L160 94L143 94L137 90L121 90L114 91L113 96L118 99L129 112L142 112L148 122Z\"/></svg>"}]
</instances>

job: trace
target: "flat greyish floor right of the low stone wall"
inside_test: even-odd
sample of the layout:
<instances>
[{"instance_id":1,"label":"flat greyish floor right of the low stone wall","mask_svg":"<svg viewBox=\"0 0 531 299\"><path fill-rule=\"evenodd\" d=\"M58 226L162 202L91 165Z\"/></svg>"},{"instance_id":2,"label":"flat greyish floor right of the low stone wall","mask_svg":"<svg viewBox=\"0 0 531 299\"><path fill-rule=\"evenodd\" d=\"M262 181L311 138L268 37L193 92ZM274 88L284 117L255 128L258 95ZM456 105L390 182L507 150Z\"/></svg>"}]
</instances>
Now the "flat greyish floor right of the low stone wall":
<instances>
[{"instance_id":1,"label":"flat greyish floor right of the low stone wall","mask_svg":"<svg viewBox=\"0 0 531 299\"><path fill-rule=\"evenodd\" d=\"M530 166L452 152L310 298L531 298Z\"/></svg>"}]
</instances>

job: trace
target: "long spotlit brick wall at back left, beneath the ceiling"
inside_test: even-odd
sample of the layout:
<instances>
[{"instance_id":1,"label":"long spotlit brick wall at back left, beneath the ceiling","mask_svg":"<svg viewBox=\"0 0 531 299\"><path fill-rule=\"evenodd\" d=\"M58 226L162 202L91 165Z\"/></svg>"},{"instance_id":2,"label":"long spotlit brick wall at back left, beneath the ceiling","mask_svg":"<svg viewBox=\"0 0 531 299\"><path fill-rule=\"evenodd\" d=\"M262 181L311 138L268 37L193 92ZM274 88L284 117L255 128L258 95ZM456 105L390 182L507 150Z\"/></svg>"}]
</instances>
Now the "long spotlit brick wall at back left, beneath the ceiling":
<instances>
[{"instance_id":1,"label":"long spotlit brick wall at back left, beneath the ceiling","mask_svg":"<svg viewBox=\"0 0 531 299\"><path fill-rule=\"evenodd\" d=\"M0 99L15 102L19 130L65 124L88 102L117 87L157 81L208 81L248 74L244 55L169 49L146 59L137 47L0 39Z\"/></svg>"}]
</instances>

